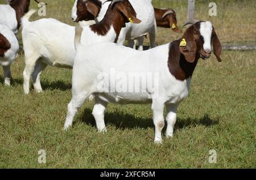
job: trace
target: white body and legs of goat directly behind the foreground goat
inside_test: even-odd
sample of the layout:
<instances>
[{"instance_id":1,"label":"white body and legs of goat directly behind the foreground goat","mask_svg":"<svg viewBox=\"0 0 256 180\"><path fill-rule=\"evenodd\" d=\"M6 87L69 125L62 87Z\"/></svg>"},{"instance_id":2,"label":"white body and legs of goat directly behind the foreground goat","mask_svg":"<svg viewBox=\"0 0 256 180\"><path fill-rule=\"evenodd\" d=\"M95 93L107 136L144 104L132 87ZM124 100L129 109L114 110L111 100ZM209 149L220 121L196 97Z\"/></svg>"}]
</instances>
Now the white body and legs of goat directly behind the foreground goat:
<instances>
[{"instance_id":1,"label":"white body and legs of goat directly behind the foreground goat","mask_svg":"<svg viewBox=\"0 0 256 180\"><path fill-rule=\"evenodd\" d=\"M30 12L29 12L30 13ZM41 92L40 73L46 65L55 67L72 68L75 59L75 27L59 22L56 19L40 19L35 22L29 22L27 17L22 19L22 40L26 61L24 70L24 92L29 92L29 79L31 72L38 66L38 73L34 76L34 87L36 91ZM81 36L83 45L95 44L97 42L114 42L116 33L113 27L105 36L99 36L94 33L89 26L84 27ZM46 65L39 63L38 59Z\"/></svg>"}]
</instances>

